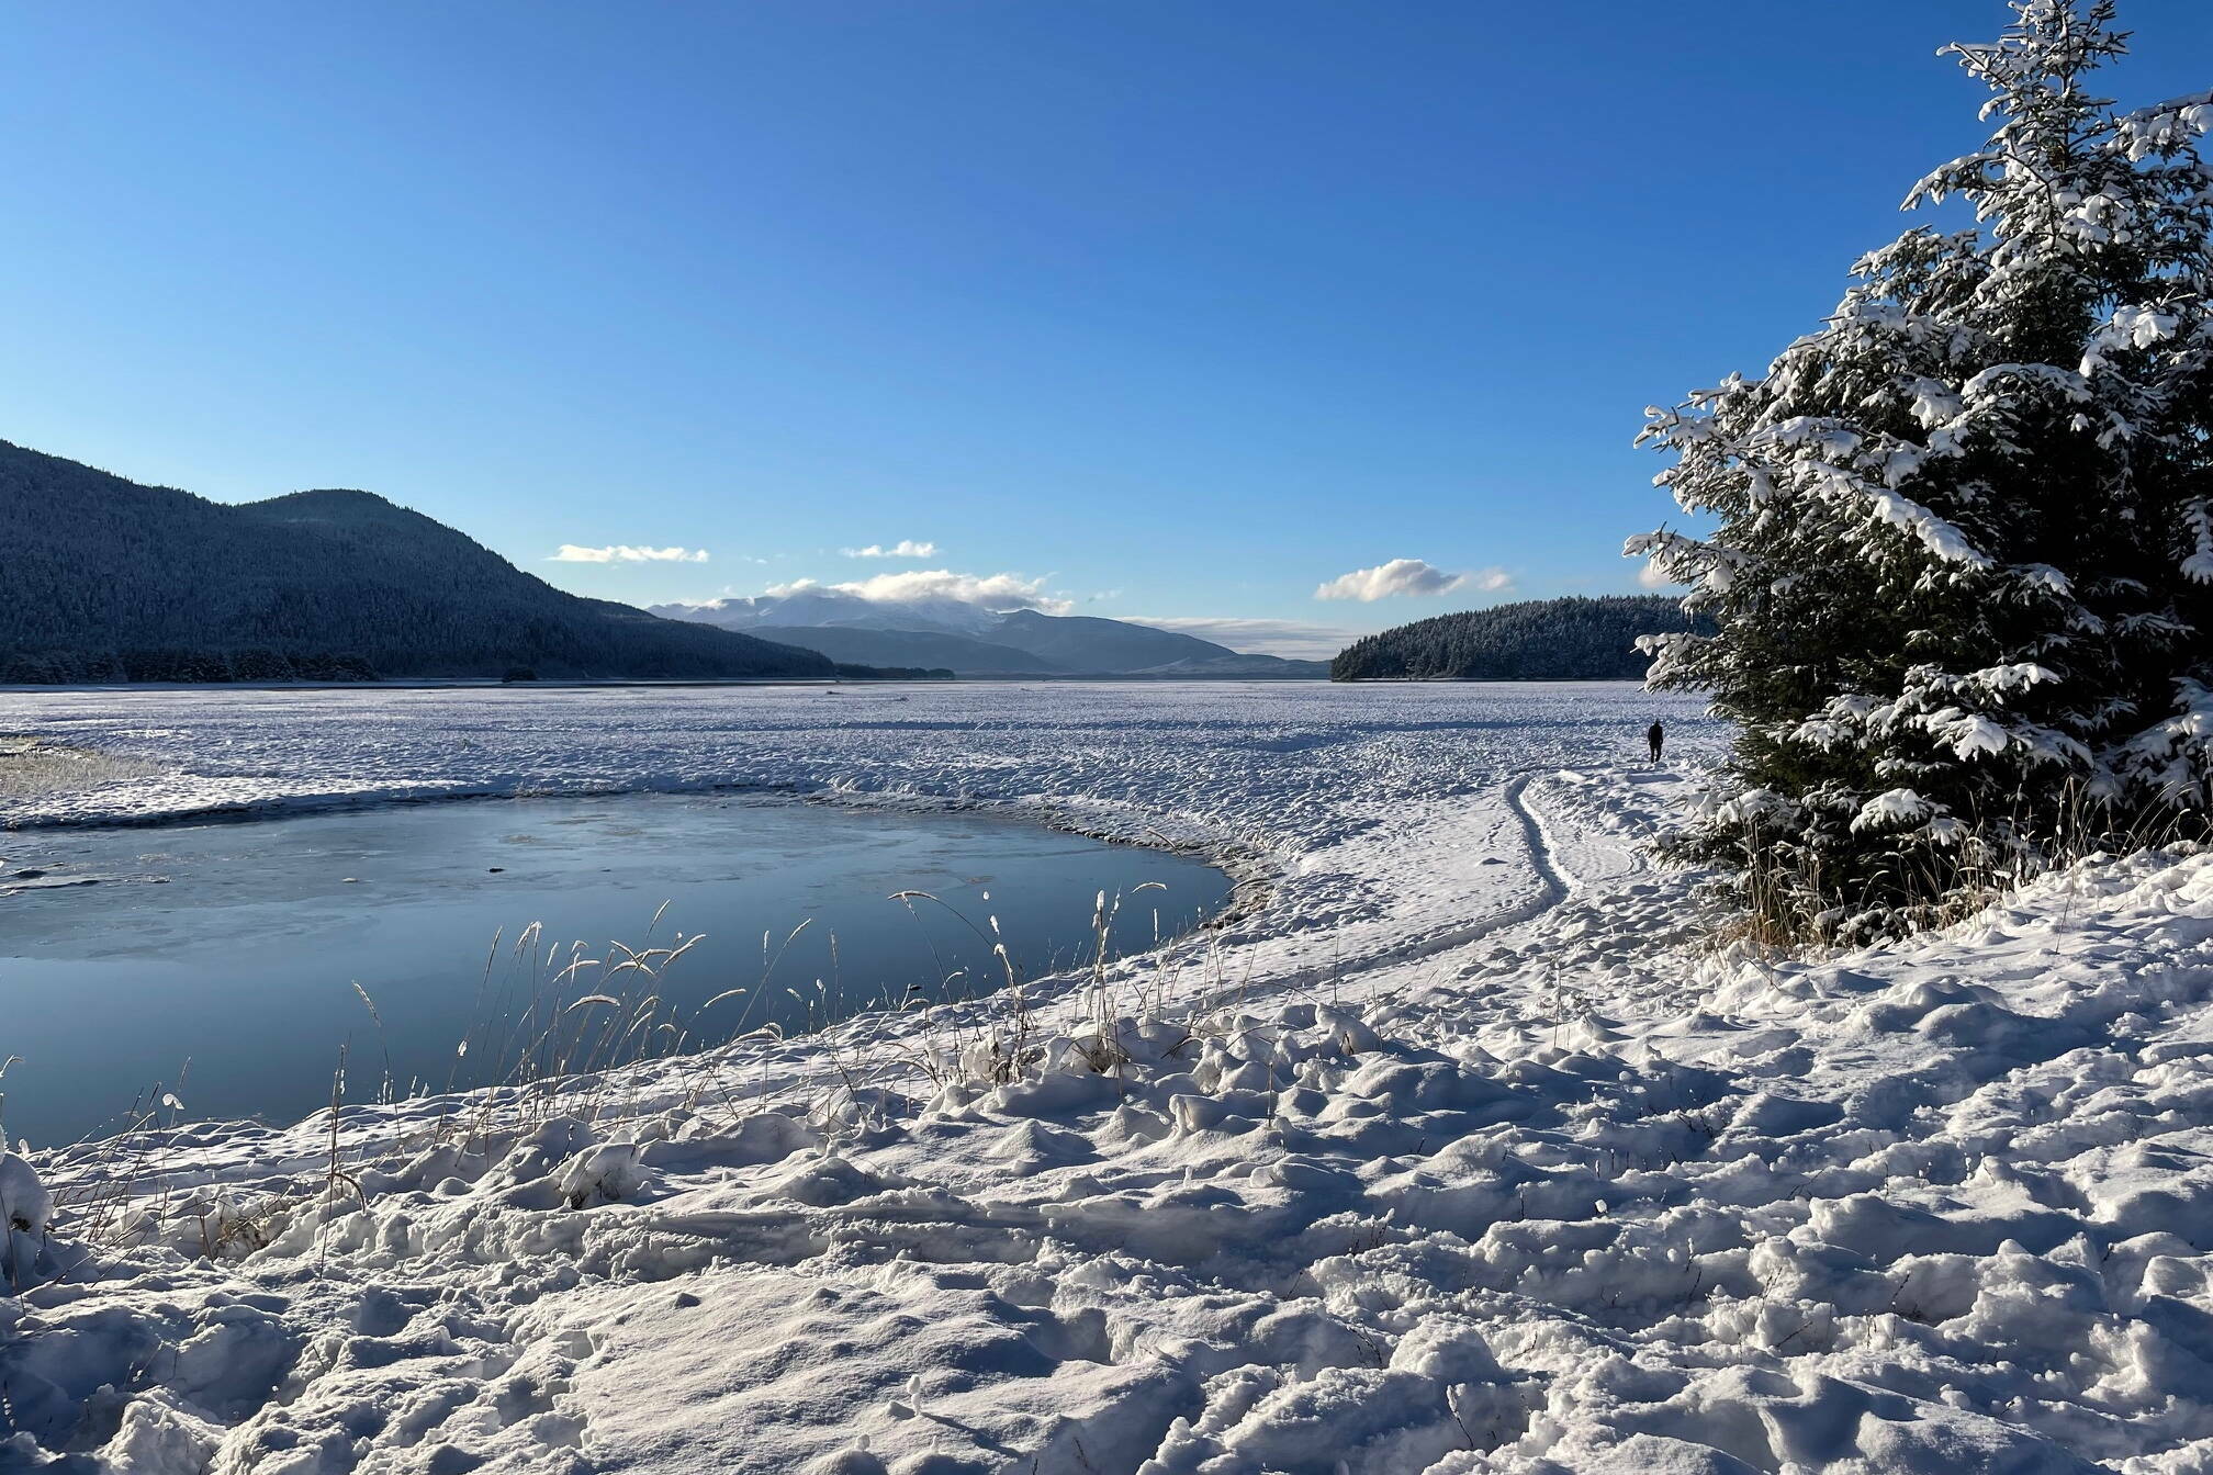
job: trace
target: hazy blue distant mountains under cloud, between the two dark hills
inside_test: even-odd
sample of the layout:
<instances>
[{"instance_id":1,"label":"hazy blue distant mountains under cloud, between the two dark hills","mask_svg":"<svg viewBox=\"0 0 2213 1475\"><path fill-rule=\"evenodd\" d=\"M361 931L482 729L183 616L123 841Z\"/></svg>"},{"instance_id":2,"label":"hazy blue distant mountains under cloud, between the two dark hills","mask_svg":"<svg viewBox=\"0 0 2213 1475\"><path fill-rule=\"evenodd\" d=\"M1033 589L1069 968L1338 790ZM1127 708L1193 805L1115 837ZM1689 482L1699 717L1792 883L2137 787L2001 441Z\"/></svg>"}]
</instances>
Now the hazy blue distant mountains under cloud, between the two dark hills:
<instances>
[{"instance_id":1,"label":"hazy blue distant mountains under cloud, between the two dark hills","mask_svg":"<svg viewBox=\"0 0 2213 1475\"><path fill-rule=\"evenodd\" d=\"M867 666L943 666L960 677L1326 677L1326 661L1239 655L1126 619L989 610L956 599L863 599L837 588L655 604L655 615Z\"/></svg>"}]
</instances>

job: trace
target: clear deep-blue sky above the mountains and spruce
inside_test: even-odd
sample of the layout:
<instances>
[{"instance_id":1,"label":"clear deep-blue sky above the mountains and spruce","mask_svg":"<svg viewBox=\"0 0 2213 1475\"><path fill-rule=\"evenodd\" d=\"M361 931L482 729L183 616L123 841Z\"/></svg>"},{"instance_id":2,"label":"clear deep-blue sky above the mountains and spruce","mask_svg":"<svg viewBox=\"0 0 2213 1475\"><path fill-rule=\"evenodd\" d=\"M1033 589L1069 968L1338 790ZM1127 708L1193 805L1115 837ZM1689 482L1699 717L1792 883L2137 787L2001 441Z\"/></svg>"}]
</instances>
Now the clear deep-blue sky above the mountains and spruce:
<instances>
[{"instance_id":1,"label":"clear deep-blue sky above the mountains and spruce","mask_svg":"<svg viewBox=\"0 0 2213 1475\"><path fill-rule=\"evenodd\" d=\"M29 4L0 438L655 601L949 568L1381 628L1635 588L1640 411L1981 135L1998 0ZM2213 4L2127 0L2138 104ZM839 548L916 540L925 559ZM708 562L549 562L562 544ZM1505 571L1323 601L1394 557ZM759 562L752 562L759 559ZM1253 641L1246 641L1253 644ZM1326 644L1326 641L1323 641Z\"/></svg>"}]
</instances>

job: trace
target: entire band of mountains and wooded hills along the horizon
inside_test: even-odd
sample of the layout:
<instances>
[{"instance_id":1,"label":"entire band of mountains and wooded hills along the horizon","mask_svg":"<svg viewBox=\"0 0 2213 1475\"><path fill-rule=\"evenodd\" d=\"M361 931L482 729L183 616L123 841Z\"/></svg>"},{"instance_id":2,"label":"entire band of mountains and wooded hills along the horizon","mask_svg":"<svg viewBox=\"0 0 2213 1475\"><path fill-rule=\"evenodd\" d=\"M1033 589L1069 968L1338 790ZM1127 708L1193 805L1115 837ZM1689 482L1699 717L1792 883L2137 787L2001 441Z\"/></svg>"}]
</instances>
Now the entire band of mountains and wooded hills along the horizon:
<instances>
[{"instance_id":1,"label":"entire band of mountains and wooded hills along the horizon","mask_svg":"<svg viewBox=\"0 0 2213 1475\"><path fill-rule=\"evenodd\" d=\"M965 599L781 595L640 610L567 595L367 491L221 504L0 440L0 683L376 677L1633 679L1669 597L1538 599L1370 635L1334 661Z\"/></svg>"}]
</instances>

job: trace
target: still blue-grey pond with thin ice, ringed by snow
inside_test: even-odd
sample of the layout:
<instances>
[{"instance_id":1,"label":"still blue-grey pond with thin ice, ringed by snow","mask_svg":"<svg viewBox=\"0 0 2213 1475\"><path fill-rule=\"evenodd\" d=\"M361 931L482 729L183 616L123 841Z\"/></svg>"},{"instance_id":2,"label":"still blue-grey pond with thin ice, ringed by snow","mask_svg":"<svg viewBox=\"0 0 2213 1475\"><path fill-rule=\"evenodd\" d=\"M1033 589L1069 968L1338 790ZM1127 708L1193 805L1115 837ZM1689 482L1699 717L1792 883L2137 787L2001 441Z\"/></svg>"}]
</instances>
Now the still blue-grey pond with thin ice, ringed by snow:
<instances>
[{"instance_id":1,"label":"still blue-grey pond with thin ice, ringed by snow","mask_svg":"<svg viewBox=\"0 0 2213 1475\"><path fill-rule=\"evenodd\" d=\"M684 794L44 829L0 836L0 1008L22 1057L0 1081L4 1130L33 1143L120 1128L162 1092L193 1117L292 1121L330 1101L341 1046L365 1101L387 1070L405 1095L524 1057L666 1053L679 1031L801 1033L1000 986L991 918L1027 980L1089 960L1100 891L1122 898L1122 955L1230 889L1184 856L1007 818ZM611 973L617 942L695 935L648 960L659 977ZM591 995L620 1002L575 1004Z\"/></svg>"}]
</instances>

